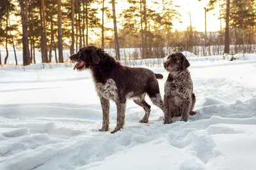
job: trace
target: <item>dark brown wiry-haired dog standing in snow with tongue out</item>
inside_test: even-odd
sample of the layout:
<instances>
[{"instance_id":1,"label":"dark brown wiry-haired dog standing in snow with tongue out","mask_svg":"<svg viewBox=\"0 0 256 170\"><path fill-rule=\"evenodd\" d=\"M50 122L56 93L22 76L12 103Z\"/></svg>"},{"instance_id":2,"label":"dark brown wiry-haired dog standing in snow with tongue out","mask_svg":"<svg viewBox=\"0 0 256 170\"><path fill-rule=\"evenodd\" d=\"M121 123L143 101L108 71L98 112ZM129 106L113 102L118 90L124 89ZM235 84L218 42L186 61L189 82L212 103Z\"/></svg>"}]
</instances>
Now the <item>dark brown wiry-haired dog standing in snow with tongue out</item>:
<instances>
[{"instance_id":1,"label":"dark brown wiry-haired dog standing in snow with tongue out","mask_svg":"<svg viewBox=\"0 0 256 170\"><path fill-rule=\"evenodd\" d=\"M95 46L81 48L79 52L70 56L70 60L78 62L75 66L78 71L92 71L95 89L102 106L102 128L99 131L109 130L109 100L116 103L117 109L116 127L111 133L124 127L125 103L128 98L132 98L134 103L145 110L141 123L147 123L150 115L150 105L145 101L146 94L152 103L164 110L157 81L157 78L163 78L162 74L155 74L150 69L141 67L122 66L104 50Z\"/></svg>"}]
</instances>

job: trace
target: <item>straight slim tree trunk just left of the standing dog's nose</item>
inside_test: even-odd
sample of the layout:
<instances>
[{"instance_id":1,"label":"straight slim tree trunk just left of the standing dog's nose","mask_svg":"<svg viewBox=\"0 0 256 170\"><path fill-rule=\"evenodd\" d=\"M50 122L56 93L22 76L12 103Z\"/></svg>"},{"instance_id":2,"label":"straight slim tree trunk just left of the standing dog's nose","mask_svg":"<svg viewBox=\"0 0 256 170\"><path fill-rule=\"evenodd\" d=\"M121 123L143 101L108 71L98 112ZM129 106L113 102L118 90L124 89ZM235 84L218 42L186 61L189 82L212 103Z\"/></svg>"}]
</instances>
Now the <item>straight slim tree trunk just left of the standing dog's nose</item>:
<instances>
[{"instance_id":1,"label":"straight slim tree trunk just left of the standing dog's nose","mask_svg":"<svg viewBox=\"0 0 256 170\"><path fill-rule=\"evenodd\" d=\"M61 0L58 1L58 51L59 51L59 62L63 60L63 46L62 46L62 27L61 27Z\"/></svg>"}]
</instances>

